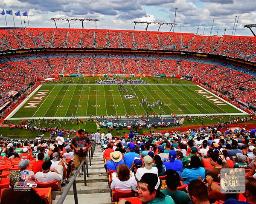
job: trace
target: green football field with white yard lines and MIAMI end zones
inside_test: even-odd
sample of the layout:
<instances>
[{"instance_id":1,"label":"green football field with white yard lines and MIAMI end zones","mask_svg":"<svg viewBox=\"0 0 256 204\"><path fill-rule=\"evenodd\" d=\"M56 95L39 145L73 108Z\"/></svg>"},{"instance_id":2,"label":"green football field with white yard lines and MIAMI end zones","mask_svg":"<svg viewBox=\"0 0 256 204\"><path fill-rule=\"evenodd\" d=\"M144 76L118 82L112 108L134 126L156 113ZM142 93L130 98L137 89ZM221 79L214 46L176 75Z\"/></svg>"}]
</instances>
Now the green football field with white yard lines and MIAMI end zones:
<instances>
[{"instance_id":1,"label":"green football field with white yard lines and MIAMI end zones","mask_svg":"<svg viewBox=\"0 0 256 204\"><path fill-rule=\"evenodd\" d=\"M142 102L144 100L144 102ZM158 101L158 102L157 102ZM246 114L198 85L39 85L8 119Z\"/></svg>"}]
</instances>

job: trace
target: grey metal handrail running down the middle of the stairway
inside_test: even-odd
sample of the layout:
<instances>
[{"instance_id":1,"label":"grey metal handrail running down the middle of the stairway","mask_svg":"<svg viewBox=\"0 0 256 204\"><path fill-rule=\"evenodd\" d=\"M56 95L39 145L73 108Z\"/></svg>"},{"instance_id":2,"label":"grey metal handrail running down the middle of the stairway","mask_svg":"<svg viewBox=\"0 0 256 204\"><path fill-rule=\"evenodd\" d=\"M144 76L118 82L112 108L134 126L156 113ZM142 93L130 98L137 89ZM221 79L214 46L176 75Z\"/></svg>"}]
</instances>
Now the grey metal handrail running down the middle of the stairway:
<instances>
[{"instance_id":1,"label":"grey metal handrail running down the middle of the stairway","mask_svg":"<svg viewBox=\"0 0 256 204\"><path fill-rule=\"evenodd\" d=\"M70 182L67 184L67 187L65 188L65 190L61 194L61 197L58 199L57 204L62 204L64 202L67 194L69 193L69 190L70 190L71 186L73 186L75 204L78 204L78 197L77 197L77 190L76 190L76 176L79 174L79 171L80 171L81 167L83 166L83 168L84 168L84 185L85 186L87 185L86 173L85 173L85 170L86 170L87 177L88 177L89 172L88 172L87 155L88 155L88 152L86 154L86 159L81 161L79 167L76 170L76 173L72 176L72 178L70 179Z\"/></svg>"}]
</instances>

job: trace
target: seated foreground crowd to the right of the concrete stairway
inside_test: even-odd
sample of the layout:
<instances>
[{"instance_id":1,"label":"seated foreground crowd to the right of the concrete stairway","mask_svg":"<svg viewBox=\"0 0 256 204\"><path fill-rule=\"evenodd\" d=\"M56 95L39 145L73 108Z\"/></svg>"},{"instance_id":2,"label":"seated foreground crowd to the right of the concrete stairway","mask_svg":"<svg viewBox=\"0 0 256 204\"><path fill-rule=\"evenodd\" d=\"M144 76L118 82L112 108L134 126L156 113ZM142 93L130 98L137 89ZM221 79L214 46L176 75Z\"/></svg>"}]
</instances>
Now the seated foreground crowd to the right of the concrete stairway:
<instances>
[{"instance_id":1,"label":"seated foreground crowd to the right of the concrete stairway","mask_svg":"<svg viewBox=\"0 0 256 204\"><path fill-rule=\"evenodd\" d=\"M172 204L187 204L189 201L198 204L254 204L255 133L256 129L246 128L220 131L219 126L215 125L182 133L166 132L158 136L136 136L132 131L125 136L102 134L102 156L110 175L111 190L128 192L131 187L137 187L138 190L133 191L142 203L165 203L167 198L161 196L169 195L172 199L168 203ZM245 171L246 193L221 193L220 172L223 168L238 169L234 172ZM158 181L155 176L158 176ZM145 179L151 179L151 182L156 179L153 187L157 183L160 185L150 191L152 197L149 200L145 200L148 197L141 193L142 182L146 182L146 186L151 185ZM155 197L153 192L163 194ZM125 203L120 200L119 204Z\"/></svg>"}]
</instances>

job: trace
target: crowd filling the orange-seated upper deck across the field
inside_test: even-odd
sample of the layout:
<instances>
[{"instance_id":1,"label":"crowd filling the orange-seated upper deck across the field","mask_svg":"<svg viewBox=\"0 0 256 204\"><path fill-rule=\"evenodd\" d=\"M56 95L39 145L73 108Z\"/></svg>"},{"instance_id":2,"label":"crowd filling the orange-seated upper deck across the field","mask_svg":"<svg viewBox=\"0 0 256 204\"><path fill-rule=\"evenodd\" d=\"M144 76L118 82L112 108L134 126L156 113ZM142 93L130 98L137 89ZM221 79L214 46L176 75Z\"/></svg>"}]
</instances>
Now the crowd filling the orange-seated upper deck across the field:
<instances>
[{"instance_id":1,"label":"crowd filling the orange-seated upper deck across the field","mask_svg":"<svg viewBox=\"0 0 256 204\"><path fill-rule=\"evenodd\" d=\"M1 29L0 50L22 48L140 48L201 51L255 61L256 40L241 36L89 29Z\"/></svg>"}]
</instances>

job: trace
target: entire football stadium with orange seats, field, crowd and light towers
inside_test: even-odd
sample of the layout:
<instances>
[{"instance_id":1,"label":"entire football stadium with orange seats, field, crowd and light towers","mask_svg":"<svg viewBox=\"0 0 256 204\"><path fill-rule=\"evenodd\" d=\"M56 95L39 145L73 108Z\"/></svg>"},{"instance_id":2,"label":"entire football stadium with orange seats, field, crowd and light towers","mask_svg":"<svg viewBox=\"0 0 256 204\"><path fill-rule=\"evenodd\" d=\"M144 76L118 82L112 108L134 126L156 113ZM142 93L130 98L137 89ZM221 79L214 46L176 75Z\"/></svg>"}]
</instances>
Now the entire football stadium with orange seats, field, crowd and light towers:
<instances>
[{"instance_id":1,"label":"entire football stadium with orange seats, field, crowd and light towers","mask_svg":"<svg viewBox=\"0 0 256 204\"><path fill-rule=\"evenodd\" d=\"M0 27L1 203L255 203L256 24L249 37L51 20Z\"/></svg>"}]
</instances>

